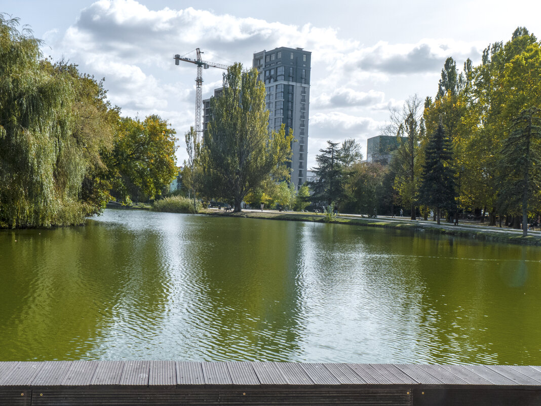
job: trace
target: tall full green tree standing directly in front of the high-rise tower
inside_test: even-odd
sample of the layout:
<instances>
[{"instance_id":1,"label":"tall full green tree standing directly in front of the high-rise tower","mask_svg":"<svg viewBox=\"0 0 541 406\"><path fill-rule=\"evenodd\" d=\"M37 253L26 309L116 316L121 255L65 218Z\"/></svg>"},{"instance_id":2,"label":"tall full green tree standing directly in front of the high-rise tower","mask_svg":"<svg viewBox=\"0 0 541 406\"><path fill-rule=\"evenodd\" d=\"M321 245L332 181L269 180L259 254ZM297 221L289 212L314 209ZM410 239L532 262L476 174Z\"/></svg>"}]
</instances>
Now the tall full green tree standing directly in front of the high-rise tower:
<instances>
[{"instance_id":1,"label":"tall full green tree standing directly in front of the high-rise tower","mask_svg":"<svg viewBox=\"0 0 541 406\"><path fill-rule=\"evenodd\" d=\"M215 197L234 201L241 211L246 194L259 187L271 174L287 176L293 132L286 135L267 129L265 85L258 71L242 70L235 63L223 75L223 93L211 101L212 117L204 134L202 164L204 179L212 179Z\"/></svg>"}]
</instances>

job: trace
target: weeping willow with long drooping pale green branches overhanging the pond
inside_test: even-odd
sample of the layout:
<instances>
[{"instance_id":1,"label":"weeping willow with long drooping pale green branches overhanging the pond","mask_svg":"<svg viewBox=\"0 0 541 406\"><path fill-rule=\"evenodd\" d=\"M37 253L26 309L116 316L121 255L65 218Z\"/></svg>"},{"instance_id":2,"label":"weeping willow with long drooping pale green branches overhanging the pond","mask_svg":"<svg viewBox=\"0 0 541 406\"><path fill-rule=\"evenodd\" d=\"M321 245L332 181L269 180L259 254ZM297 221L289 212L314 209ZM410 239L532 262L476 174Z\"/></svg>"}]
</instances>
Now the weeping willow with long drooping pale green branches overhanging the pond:
<instances>
[{"instance_id":1,"label":"weeping willow with long drooping pale green branches overhanging the pond","mask_svg":"<svg viewBox=\"0 0 541 406\"><path fill-rule=\"evenodd\" d=\"M70 80L40 61L40 41L0 15L0 223L74 224L85 165L71 137Z\"/></svg>"}]
</instances>

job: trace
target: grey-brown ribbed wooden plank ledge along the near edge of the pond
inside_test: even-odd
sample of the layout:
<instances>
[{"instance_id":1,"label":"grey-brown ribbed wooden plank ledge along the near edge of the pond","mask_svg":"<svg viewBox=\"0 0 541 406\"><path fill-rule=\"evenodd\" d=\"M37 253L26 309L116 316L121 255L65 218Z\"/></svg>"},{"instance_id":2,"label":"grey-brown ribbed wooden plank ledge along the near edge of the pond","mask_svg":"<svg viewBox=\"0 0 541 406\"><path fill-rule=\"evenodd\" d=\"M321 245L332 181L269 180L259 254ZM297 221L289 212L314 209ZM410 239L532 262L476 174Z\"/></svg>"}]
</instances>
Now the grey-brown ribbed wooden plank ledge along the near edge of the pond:
<instances>
[{"instance_id":1,"label":"grey-brown ribbed wooden plank ledge along the near edge of the pond","mask_svg":"<svg viewBox=\"0 0 541 406\"><path fill-rule=\"evenodd\" d=\"M0 362L0 405L539 405L541 366Z\"/></svg>"}]
</instances>

